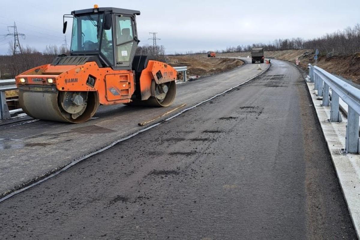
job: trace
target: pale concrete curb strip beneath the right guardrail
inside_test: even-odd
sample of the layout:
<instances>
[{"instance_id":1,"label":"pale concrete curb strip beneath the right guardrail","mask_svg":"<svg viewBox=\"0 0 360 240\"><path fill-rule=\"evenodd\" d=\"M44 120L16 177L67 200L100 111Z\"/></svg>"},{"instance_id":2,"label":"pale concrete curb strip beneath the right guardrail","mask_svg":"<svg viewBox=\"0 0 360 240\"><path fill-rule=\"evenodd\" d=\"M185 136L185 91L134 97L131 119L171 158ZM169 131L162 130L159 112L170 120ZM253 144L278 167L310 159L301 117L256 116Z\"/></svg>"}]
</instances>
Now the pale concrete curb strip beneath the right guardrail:
<instances>
[{"instance_id":1,"label":"pale concrete curb strip beneath the right guardrail","mask_svg":"<svg viewBox=\"0 0 360 240\"><path fill-rule=\"evenodd\" d=\"M321 106L322 100L318 100L319 97L314 90L314 83L306 82L306 84L331 154L352 223L357 237L360 239L360 155L342 154L340 152L340 149L345 146L347 119L342 116L343 122L328 122L327 119L330 119L330 107Z\"/></svg>"}]
</instances>

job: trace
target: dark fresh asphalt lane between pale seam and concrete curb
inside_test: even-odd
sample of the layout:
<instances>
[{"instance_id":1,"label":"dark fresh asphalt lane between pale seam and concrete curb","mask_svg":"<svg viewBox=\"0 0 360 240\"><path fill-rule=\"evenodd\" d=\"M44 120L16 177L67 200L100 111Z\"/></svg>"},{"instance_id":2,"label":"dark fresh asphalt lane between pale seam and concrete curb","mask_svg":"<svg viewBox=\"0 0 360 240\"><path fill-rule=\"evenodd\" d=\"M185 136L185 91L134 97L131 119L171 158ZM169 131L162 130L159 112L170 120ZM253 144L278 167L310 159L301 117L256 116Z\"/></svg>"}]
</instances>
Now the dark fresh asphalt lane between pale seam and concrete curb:
<instances>
[{"instance_id":1,"label":"dark fresh asphalt lane between pale seam and concrete curb","mask_svg":"<svg viewBox=\"0 0 360 240\"><path fill-rule=\"evenodd\" d=\"M74 146L76 147L76 146ZM0 203L0 239L356 239L291 64Z\"/></svg>"}]
</instances>

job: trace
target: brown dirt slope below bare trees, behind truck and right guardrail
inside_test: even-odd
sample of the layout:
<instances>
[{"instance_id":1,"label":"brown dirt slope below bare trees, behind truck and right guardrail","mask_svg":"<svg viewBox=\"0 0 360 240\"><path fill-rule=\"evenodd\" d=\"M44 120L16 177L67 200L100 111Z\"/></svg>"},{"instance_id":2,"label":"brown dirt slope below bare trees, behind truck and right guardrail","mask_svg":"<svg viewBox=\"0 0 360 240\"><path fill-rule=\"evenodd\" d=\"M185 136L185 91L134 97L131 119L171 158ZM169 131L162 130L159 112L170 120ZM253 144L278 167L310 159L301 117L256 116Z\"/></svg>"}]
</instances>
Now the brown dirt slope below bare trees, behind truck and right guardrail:
<instances>
[{"instance_id":1,"label":"brown dirt slope below bare trees, behind truck and right guardrail","mask_svg":"<svg viewBox=\"0 0 360 240\"><path fill-rule=\"evenodd\" d=\"M251 56L250 52L243 53L219 53L218 56ZM265 51L265 58L275 58L287 60L295 63L295 59L300 60L300 66L303 69L307 68L307 64L315 64L314 50L284 50L284 51ZM350 56L333 56L327 58L325 55L320 55L317 65L325 69L329 73L342 76L346 79L352 80L360 84L360 53Z\"/></svg>"}]
</instances>

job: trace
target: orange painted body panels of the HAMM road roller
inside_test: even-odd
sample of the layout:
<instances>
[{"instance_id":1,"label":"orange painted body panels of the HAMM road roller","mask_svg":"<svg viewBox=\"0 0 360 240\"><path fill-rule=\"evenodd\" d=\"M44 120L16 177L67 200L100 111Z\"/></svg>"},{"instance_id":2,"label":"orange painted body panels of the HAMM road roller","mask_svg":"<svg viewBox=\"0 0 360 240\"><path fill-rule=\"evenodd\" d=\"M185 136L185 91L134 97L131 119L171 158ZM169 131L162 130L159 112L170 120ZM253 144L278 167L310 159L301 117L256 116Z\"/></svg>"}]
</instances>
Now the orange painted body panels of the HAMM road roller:
<instances>
[{"instance_id":1,"label":"orange painted body panels of the HAMM road roller","mask_svg":"<svg viewBox=\"0 0 360 240\"><path fill-rule=\"evenodd\" d=\"M25 81L21 82L21 78ZM16 76L16 84L21 89L30 91L44 91L44 86L46 89L52 86L53 90L56 87L57 91L96 91L100 104L113 105L130 103L136 89L141 93L139 100L146 100L151 96L152 81L160 84L174 81L175 78L174 68L154 60L149 60L138 82L135 81L135 72L132 70L100 68L96 62L87 62L82 65L46 64L32 68ZM137 84L140 86L136 86Z\"/></svg>"}]
</instances>

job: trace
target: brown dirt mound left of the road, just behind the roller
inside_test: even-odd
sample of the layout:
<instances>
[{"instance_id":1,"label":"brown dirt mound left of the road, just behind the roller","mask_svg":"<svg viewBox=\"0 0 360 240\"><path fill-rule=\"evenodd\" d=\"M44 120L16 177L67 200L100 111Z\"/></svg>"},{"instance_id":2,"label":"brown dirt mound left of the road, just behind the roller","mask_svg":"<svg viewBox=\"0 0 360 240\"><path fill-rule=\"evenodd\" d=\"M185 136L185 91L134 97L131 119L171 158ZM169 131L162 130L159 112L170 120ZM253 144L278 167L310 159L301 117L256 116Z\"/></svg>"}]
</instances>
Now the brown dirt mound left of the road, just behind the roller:
<instances>
[{"instance_id":1,"label":"brown dirt mound left of the road, just behind the roller","mask_svg":"<svg viewBox=\"0 0 360 240\"><path fill-rule=\"evenodd\" d=\"M169 56L173 67L187 66L189 75L207 76L231 70L244 64L233 58L207 58L206 56Z\"/></svg>"}]
</instances>

